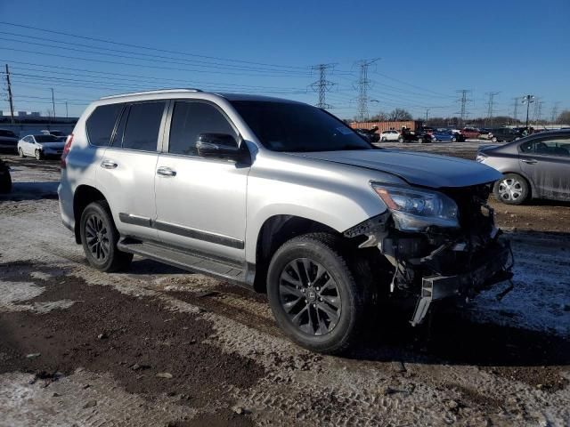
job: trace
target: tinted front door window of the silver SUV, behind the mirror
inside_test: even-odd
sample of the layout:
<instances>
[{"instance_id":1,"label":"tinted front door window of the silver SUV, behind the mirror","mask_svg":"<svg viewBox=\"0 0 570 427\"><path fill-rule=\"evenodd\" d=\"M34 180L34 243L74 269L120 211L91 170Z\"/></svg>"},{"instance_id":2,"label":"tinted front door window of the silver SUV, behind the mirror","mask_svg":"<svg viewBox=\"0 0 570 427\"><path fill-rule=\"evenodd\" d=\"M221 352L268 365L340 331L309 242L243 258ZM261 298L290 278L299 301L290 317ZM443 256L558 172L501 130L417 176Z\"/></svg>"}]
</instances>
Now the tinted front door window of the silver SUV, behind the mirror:
<instances>
[{"instance_id":1,"label":"tinted front door window of the silver SUV, behind the mirror","mask_svg":"<svg viewBox=\"0 0 570 427\"><path fill-rule=\"evenodd\" d=\"M168 152L197 156L196 141L200 133L227 133L237 136L216 107L203 102L176 102L170 125Z\"/></svg>"}]
</instances>

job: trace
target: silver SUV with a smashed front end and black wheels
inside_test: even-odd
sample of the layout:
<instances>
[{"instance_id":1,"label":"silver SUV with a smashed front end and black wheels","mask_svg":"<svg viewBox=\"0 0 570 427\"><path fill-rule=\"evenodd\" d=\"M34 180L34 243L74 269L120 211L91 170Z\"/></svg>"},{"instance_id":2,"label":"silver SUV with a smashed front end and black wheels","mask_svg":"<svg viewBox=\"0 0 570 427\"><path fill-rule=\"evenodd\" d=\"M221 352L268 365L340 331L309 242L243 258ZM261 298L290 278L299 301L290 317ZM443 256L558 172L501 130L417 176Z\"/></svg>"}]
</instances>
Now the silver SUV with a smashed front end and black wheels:
<instances>
[{"instance_id":1,"label":"silver SUV with a smashed front end and black wheels","mask_svg":"<svg viewBox=\"0 0 570 427\"><path fill-rule=\"evenodd\" d=\"M485 205L499 178L377 149L304 103L181 89L85 109L59 196L95 269L138 254L251 286L295 342L338 353L384 302L418 325L432 302L511 277Z\"/></svg>"}]
</instances>

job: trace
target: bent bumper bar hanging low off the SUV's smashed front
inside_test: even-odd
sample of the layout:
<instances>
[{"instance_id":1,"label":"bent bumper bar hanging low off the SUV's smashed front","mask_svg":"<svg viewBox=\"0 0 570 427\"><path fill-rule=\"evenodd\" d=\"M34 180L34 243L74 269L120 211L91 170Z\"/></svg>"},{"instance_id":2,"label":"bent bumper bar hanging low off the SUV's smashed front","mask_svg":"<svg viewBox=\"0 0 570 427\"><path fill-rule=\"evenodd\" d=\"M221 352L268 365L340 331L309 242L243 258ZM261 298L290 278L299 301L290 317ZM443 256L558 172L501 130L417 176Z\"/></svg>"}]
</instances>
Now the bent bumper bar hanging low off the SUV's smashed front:
<instances>
[{"instance_id":1,"label":"bent bumper bar hanging low off the SUV's smashed front","mask_svg":"<svg viewBox=\"0 0 570 427\"><path fill-rule=\"evenodd\" d=\"M454 276L429 276L422 278L421 293L411 318L411 326L419 325L428 314L432 302L451 297L472 297L491 286L513 277L508 266L512 256L509 242L485 256L479 267Z\"/></svg>"}]
</instances>

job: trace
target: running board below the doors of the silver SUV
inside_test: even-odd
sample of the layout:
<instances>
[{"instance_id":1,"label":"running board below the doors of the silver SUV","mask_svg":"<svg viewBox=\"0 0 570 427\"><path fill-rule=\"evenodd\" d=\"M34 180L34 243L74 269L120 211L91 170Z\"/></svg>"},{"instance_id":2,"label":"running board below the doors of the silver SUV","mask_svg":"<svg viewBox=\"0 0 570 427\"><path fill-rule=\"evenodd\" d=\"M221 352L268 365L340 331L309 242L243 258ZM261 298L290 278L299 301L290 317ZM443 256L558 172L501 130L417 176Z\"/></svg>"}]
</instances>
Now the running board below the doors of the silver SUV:
<instances>
[{"instance_id":1,"label":"running board below the doors of the silver SUV","mask_svg":"<svg viewBox=\"0 0 570 427\"><path fill-rule=\"evenodd\" d=\"M216 278L224 278L238 284L246 283L246 270L238 263L223 262L208 258L202 254L193 254L184 250L172 249L156 243L142 242L130 238L119 240L117 247L122 252L141 255L144 258L164 262L183 270L203 273Z\"/></svg>"}]
</instances>

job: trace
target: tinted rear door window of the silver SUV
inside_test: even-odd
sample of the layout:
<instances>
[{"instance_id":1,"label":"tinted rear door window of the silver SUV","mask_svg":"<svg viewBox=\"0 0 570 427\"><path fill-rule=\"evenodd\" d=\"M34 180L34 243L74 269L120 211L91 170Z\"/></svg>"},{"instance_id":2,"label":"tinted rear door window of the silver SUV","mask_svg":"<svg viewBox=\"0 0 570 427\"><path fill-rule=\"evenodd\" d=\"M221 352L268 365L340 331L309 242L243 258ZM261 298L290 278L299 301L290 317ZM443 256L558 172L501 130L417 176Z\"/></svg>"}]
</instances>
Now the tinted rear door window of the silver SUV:
<instances>
[{"instance_id":1,"label":"tinted rear door window of the silver SUV","mask_svg":"<svg viewBox=\"0 0 570 427\"><path fill-rule=\"evenodd\" d=\"M144 102L131 105L123 135L124 149L157 150L164 106L165 102Z\"/></svg>"}]
</instances>

